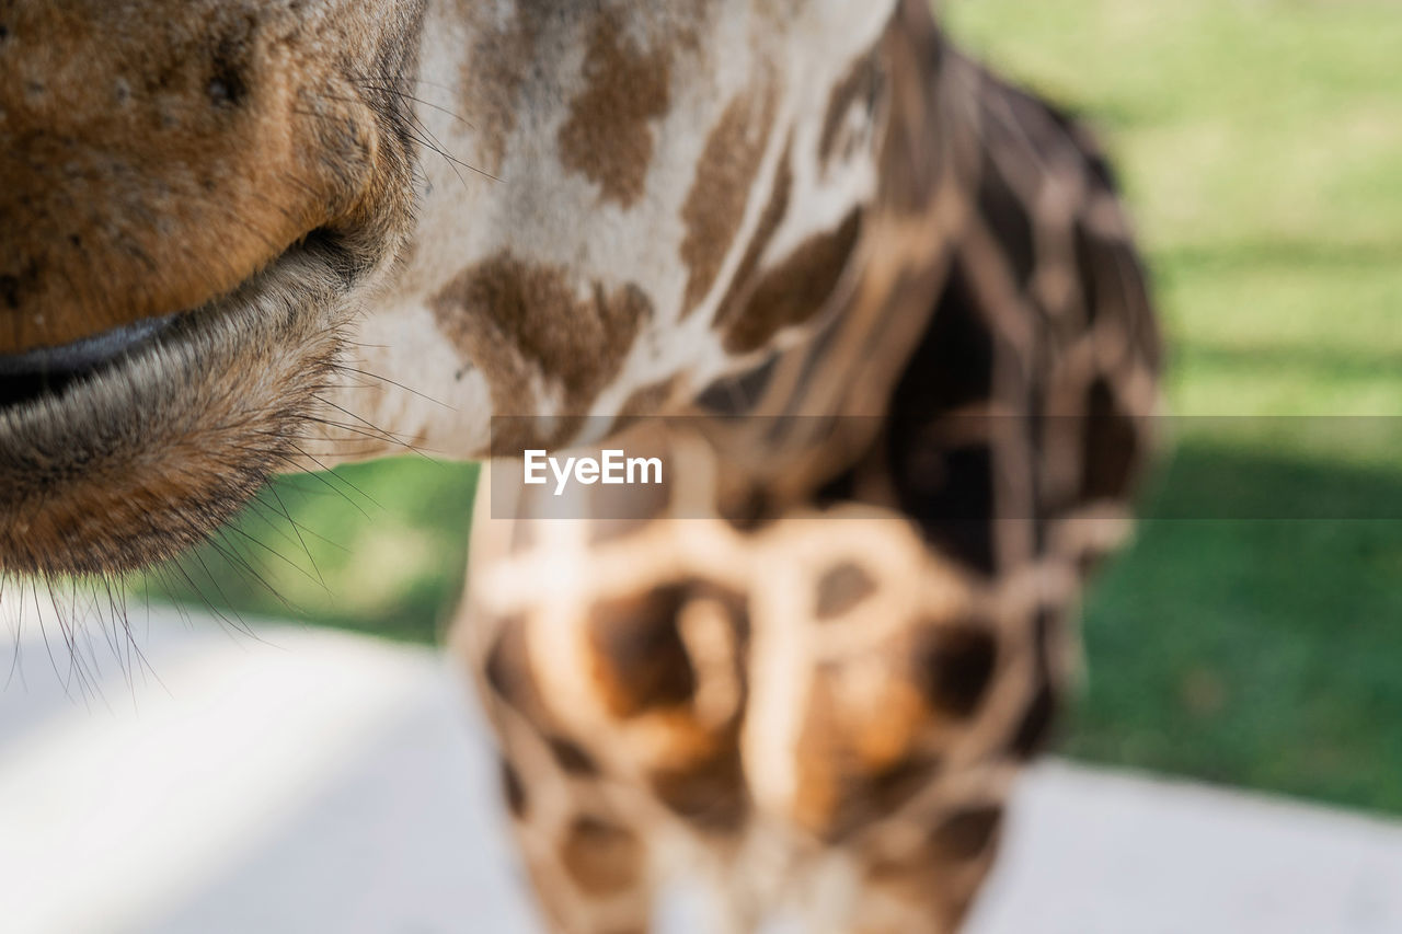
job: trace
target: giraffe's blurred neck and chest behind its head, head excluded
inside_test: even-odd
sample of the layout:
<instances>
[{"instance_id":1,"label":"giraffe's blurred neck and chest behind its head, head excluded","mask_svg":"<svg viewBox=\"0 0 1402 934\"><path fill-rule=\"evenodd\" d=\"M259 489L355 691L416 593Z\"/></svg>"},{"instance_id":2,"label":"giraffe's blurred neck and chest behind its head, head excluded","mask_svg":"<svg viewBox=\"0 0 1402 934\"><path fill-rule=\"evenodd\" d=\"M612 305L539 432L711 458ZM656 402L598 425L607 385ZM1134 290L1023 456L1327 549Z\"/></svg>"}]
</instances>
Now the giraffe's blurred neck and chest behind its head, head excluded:
<instances>
[{"instance_id":1,"label":"giraffe's blurred neck and chest behind its head, head excluded","mask_svg":"<svg viewBox=\"0 0 1402 934\"><path fill-rule=\"evenodd\" d=\"M1129 530L1159 349L1103 157L918 4L873 52L854 81L920 118L806 341L610 442L663 489L479 494L454 647L558 930L648 930L677 864L714 930L956 930Z\"/></svg>"}]
</instances>

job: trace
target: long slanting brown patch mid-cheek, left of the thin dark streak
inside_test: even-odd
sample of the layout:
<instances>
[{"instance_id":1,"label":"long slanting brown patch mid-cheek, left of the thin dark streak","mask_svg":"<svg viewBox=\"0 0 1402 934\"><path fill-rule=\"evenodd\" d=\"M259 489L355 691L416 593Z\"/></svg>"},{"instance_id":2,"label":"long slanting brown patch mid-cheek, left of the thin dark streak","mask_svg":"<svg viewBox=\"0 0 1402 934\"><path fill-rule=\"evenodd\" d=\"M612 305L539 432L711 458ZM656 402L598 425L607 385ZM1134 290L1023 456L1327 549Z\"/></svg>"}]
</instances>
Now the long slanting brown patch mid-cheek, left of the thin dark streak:
<instances>
[{"instance_id":1,"label":"long slanting brown patch mid-cheek, left of the thin dark streak","mask_svg":"<svg viewBox=\"0 0 1402 934\"><path fill-rule=\"evenodd\" d=\"M681 220L687 227L681 261L690 273L683 316L695 310L711 290L740 231L750 189L770 140L775 101L773 84L740 94L725 108L707 137L691 191L681 206Z\"/></svg>"}]
</instances>

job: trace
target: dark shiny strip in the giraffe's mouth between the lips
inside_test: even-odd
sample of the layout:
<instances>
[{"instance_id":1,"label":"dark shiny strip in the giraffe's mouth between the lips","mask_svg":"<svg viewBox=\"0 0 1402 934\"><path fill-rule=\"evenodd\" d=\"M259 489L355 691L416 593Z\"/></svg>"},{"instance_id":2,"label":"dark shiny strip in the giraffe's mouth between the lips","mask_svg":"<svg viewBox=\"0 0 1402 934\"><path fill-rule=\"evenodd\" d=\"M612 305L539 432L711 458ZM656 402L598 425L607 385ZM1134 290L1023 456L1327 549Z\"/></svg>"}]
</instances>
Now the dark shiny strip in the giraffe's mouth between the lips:
<instances>
[{"instance_id":1,"label":"dark shiny strip in the giraffe's mouth between the lips","mask_svg":"<svg viewBox=\"0 0 1402 934\"><path fill-rule=\"evenodd\" d=\"M146 318L63 346L0 356L0 410L62 395L76 381L154 344L178 317Z\"/></svg>"}]
</instances>

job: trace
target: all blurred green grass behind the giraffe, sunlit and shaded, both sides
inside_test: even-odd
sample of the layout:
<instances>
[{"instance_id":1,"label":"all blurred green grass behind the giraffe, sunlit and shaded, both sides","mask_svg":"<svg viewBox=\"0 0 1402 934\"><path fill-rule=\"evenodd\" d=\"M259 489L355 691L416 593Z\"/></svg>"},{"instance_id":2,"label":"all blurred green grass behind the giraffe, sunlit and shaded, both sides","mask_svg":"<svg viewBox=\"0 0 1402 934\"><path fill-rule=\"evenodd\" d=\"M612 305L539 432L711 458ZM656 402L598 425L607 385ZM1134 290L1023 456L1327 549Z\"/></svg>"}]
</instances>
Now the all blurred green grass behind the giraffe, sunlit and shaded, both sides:
<instances>
[{"instance_id":1,"label":"all blurred green grass behind the giraffe, sunlit and shaded, both sides","mask_svg":"<svg viewBox=\"0 0 1402 934\"><path fill-rule=\"evenodd\" d=\"M1171 411L1402 415L1391 0L948 0L945 15L1101 129L1166 318ZM1064 747L1402 813L1402 522L1166 517L1249 495L1402 515L1395 425L1321 449L1273 424L1180 424L1147 496L1164 517L1087 606L1089 679ZM458 596L474 484L470 466L422 459L290 478L224 537L238 560L185 572L240 611L428 641ZM303 532L282 523L278 541L257 512L283 508Z\"/></svg>"}]
</instances>

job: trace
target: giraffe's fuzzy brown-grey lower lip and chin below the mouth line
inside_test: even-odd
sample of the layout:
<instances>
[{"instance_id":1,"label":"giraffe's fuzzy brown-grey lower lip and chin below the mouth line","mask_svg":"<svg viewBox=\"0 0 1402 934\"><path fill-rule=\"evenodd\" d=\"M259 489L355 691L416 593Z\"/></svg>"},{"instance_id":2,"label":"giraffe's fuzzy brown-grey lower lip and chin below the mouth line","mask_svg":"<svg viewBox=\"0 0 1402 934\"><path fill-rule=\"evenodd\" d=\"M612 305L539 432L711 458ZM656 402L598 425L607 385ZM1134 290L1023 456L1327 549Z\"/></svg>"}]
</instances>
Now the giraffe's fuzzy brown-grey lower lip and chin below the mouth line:
<instances>
[{"instance_id":1,"label":"giraffe's fuzzy brown-grey lower lip and chin below the mouth line","mask_svg":"<svg viewBox=\"0 0 1402 934\"><path fill-rule=\"evenodd\" d=\"M200 309L0 358L0 576L150 567L297 466L350 306L343 259L313 238Z\"/></svg>"}]
</instances>

